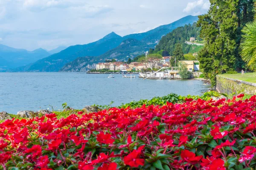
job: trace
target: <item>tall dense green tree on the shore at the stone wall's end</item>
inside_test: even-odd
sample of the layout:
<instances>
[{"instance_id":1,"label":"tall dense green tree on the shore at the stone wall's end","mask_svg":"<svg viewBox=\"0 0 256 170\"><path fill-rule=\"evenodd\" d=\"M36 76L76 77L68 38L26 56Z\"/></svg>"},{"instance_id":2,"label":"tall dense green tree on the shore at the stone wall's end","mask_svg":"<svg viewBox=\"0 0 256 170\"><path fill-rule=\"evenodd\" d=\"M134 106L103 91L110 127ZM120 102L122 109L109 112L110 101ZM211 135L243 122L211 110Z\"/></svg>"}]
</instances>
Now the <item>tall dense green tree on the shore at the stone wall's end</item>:
<instances>
[{"instance_id":1,"label":"tall dense green tree on the shore at the stone wall's end","mask_svg":"<svg viewBox=\"0 0 256 170\"><path fill-rule=\"evenodd\" d=\"M238 53L241 28L252 20L253 0L210 0L207 14L199 16L204 48L198 57L201 70L215 85L216 74L239 70L243 61Z\"/></svg>"}]
</instances>

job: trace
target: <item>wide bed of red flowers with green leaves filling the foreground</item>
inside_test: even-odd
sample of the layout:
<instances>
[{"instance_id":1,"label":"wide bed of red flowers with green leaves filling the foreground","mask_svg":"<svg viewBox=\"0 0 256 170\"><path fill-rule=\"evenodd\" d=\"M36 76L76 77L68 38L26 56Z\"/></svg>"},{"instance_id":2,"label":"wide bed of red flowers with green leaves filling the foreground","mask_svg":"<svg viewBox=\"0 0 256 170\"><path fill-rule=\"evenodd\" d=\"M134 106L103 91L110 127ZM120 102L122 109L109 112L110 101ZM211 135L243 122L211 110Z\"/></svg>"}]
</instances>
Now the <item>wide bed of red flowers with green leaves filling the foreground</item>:
<instances>
[{"instance_id":1,"label":"wide bed of red flowers with green leaves filling the foreground","mask_svg":"<svg viewBox=\"0 0 256 170\"><path fill-rule=\"evenodd\" d=\"M256 166L255 108L256 96L186 99L66 119L52 113L6 120L0 169L250 170Z\"/></svg>"}]
</instances>

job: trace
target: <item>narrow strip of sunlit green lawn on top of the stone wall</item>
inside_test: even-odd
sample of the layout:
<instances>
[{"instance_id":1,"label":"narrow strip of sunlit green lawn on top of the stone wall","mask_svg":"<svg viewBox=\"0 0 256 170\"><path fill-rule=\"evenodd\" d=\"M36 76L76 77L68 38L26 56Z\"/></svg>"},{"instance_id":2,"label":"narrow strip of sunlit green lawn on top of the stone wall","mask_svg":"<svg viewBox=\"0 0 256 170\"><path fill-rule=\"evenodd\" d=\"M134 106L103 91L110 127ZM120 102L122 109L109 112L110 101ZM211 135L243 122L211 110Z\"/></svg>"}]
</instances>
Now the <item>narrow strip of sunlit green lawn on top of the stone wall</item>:
<instances>
[{"instance_id":1,"label":"narrow strip of sunlit green lawn on top of the stone wall","mask_svg":"<svg viewBox=\"0 0 256 170\"><path fill-rule=\"evenodd\" d=\"M243 75L241 73L237 73L237 74L221 74L221 77L227 77L227 78L237 79L237 80L241 80L241 81L245 81L245 82L256 83L255 73L245 73Z\"/></svg>"}]
</instances>

